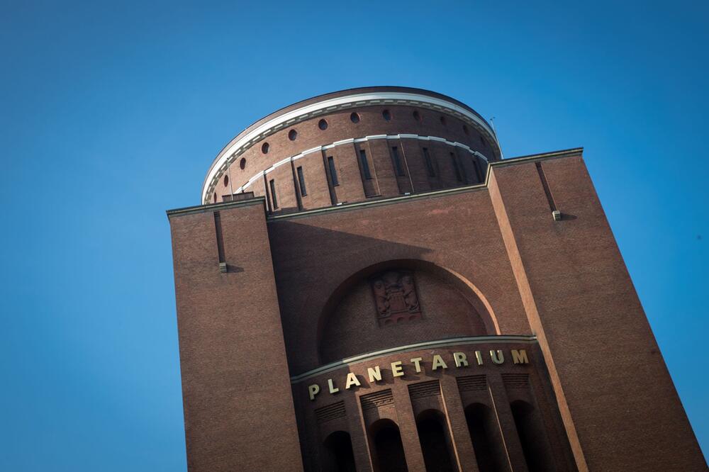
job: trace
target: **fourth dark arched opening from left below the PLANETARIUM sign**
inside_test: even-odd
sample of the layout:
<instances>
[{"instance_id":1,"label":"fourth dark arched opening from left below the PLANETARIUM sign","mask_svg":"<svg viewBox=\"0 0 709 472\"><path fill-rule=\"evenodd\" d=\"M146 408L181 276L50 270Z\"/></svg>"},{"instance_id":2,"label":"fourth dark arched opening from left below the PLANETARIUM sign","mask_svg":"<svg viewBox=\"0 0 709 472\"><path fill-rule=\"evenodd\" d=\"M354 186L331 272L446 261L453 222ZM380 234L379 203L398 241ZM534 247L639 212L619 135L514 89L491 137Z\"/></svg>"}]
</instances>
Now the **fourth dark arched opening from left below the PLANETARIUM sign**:
<instances>
[{"instance_id":1,"label":"fourth dark arched opening from left below the PLANETARIUM sign","mask_svg":"<svg viewBox=\"0 0 709 472\"><path fill-rule=\"evenodd\" d=\"M499 447L501 438L496 437L496 422L490 408L481 403L473 403L465 409L465 419L479 471L505 471L505 453Z\"/></svg>"}]
</instances>

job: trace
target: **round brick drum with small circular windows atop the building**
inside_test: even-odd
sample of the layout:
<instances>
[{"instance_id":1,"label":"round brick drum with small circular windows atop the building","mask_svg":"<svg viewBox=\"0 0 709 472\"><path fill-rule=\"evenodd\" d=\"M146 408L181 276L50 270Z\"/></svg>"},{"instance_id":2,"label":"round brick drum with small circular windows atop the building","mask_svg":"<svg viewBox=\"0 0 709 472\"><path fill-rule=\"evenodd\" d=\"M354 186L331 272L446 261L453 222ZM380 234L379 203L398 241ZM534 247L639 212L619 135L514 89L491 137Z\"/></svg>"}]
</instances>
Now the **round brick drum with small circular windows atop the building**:
<instances>
[{"instance_id":1,"label":"round brick drum with small circular windows atop the building","mask_svg":"<svg viewBox=\"0 0 709 472\"><path fill-rule=\"evenodd\" d=\"M212 163L201 199L252 192L272 212L310 210L478 184L500 157L492 128L464 103L408 87L349 89L243 130Z\"/></svg>"}]
</instances>

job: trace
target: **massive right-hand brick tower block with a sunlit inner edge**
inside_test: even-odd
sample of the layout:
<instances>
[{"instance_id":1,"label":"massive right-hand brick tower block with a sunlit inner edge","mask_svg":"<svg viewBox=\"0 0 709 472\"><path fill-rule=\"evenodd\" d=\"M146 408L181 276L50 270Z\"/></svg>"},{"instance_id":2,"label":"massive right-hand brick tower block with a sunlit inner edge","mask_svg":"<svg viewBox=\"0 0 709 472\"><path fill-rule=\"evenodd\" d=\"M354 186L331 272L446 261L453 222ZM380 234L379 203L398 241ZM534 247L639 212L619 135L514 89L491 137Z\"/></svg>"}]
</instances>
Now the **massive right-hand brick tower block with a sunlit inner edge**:
<instances>
[{"instance_id":1,"label":"massive right-hand brick tower block with a sunlit inner edge","mask_svg":"<svg viewBox=\"0 0 709 472\"><path fill-rule=\"evenodd\" d=\"M703 470L581 150L491 166L491 202L576 467Z\"/></svg>"}]
</instances>

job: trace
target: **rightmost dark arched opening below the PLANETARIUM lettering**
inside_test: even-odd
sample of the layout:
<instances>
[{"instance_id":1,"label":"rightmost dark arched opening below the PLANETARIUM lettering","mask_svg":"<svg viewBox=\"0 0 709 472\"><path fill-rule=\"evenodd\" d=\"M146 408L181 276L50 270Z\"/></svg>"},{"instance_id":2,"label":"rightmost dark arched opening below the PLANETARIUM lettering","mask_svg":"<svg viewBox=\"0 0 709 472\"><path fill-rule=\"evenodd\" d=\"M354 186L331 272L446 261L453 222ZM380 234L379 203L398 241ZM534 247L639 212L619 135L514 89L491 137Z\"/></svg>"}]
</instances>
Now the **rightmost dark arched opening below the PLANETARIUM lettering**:
<instances>
[{"instance_id":1,"label":"rightmost dark arched opening below the PLANETARIUM lettering","mask_svg":"<svg viewBox=\"0 0 709 472\"><path fill-rule=\"evenodd\" d=\"M520 436L522 452L530 472L553 470L552 460L547 450L546 434L535 415L532 405L522 400L510 403L515 418L517 434Z\"/></svg>"}]
</instances>

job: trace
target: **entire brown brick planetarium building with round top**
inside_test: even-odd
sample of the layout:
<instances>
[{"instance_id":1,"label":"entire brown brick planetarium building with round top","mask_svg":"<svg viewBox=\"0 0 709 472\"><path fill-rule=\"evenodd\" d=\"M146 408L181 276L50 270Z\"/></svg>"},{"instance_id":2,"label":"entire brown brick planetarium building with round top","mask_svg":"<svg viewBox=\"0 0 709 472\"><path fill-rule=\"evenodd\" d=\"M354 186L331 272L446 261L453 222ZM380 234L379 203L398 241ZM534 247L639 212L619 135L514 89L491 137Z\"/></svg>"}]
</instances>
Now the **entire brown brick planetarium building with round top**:
<instances>
[{"instance_id":1,"label":"entire brown brick planetarium building with round top","mask_svg":"<svg viewBox=\"0 0 709 472\"><path fill-rule=\"evenodd\" d=\"M190 471L705 469L581 148L350 89L167 213Z\"/></svg>"}]
</instances>

